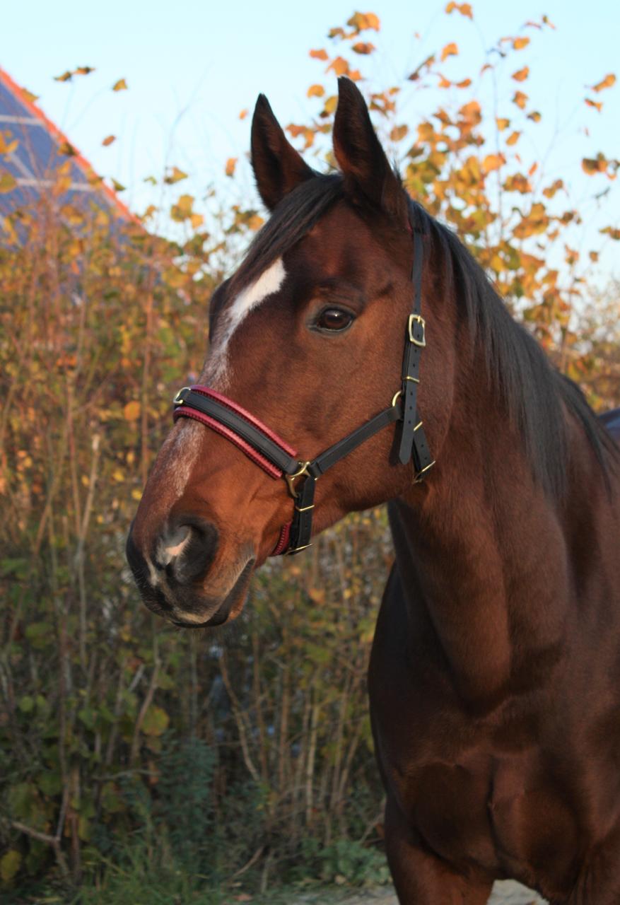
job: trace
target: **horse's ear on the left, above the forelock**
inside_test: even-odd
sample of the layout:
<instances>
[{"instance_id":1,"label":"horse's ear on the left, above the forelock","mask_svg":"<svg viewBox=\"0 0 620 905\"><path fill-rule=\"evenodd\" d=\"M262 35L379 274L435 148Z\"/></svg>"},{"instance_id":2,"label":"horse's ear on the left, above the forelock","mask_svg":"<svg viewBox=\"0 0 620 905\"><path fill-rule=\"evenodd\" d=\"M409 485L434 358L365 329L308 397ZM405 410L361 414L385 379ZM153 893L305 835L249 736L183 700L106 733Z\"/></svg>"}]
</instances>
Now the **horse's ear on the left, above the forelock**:
<instances>
[{"instance_id":1,"label":"horse's ear on the left, above the forelock","mask_svg":"<svg viewBox=\"0 0 620 905\"><path fill-rule=\"evenodd\" d=\"M252 119L252 167L270 211L295 186L316 175L284 135L264 94L258 96Z\"/></svg>"}]
</instances>

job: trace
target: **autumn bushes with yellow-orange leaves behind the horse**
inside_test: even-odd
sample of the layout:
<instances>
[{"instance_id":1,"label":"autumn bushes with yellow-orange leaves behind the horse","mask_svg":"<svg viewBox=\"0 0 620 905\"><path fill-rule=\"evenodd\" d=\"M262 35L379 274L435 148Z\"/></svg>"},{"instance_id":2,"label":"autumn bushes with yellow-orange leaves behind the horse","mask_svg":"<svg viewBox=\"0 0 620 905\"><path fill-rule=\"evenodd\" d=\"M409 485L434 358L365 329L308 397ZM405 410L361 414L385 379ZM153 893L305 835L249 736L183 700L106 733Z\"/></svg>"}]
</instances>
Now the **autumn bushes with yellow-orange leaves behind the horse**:
<instances>
[{"instance_id":1,"label":"autumn bushes with yellow-orange leaves behind the horse","mask_svg":"<svg viewBox=\"0 0 620 905\"><path fill-rule=\"evenodd\" d=\"M584 228L618 161L592 148L577 163L593 186L577 204L537 157L545 98L528 96L527 54L546 17L463 74L472 7L445 14L455 40L391 85L364 79L377 14L331 29L310 49L314 114L289 124L291 139L332 165L334 77L359 81L407 189L458 231L592 403L618 405L618 293L596 267L620 230L610 212L590 248ZM585 79L586 121L605 115L615 76ZM424 110L430 85L445 101ZM223 166L234 181L247 162ZM0 894L206 902L281 881L384 881L365 690L392 557L383 510L264 567L220 633L159 623L124 562L173 388L202 364L211 292L262 214L225 192L190 195L186 172L168 167L121 229L97 207L63 206L62 167L55 178L41 205L5 220L0 245Z\"/></svg>"}]
</instances>

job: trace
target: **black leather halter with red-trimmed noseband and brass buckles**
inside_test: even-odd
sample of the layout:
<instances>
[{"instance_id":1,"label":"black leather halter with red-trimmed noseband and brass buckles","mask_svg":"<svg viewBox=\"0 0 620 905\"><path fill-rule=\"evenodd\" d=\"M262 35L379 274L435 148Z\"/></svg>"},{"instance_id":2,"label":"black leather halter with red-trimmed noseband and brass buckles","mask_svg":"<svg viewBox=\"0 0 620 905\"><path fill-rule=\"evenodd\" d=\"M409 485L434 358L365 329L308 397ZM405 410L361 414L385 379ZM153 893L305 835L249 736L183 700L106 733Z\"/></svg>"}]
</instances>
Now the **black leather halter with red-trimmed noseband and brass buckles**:
<instances>
[{"instance_id":1,"label":"black leather halter with red-trimmed noseband and brass buckles","mask_svg":"<svg viewBox=\"0 0 620 905\"><path fill-rule=\"evenodd\" d=\"M425 323L422 317L422 264L424 259L423 234L411 226L414 236L414 263L411 280L414 285L414 301L405 329L405 352L401 373L402 386L392 402L352 433L321 452L315 459L303 461L295 451L253 414L207 386L184 386L176 394L174 419L194 418L234 443L253 462L272 478L287 482L294 500L293 518L281 529L280 539L272 556L290 555L310 547L314 491L317 481L332 465L388 424L398 422L400 439L398 459L405 464L413 458L415 481L422 481L425 472L434 465L428 449L422 421L417 414L417 387L420 383L420 356L426 345ZM296 481L299 480L299 483Z\"/></svg>"}]
</instances>

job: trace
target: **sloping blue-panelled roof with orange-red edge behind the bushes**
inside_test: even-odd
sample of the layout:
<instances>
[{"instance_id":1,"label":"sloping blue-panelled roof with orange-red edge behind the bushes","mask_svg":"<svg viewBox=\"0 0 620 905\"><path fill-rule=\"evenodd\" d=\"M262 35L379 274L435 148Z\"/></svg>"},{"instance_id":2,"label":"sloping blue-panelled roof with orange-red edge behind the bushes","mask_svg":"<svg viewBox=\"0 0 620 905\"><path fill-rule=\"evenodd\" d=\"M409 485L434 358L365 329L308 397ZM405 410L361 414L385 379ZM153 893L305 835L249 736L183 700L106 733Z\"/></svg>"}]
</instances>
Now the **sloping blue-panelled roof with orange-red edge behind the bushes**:
<instances>
[{"instance_id":1,"label":"sloping blue-panelled roof with orange-red edge behind the bushes","mask_svg":"<svg viewBox=\"0 0 620 905\"><path fill-rule=\"evenodd\" d=\"M62 205L81 207L85 201L94 201L98 207L110 210L122 220L135 219L111 188L95 175L72 142L2 69L0 138L3 139L0 151L3 145L11 146L15 140L17 142L10 153L0 153L0 180L7 171L15 180L14 187L0 191L0 223L3 215L35 204L43 192L55 184L58 169L67 162L70 182L59 196ZM67 154L69 148L71 151Z\"/></svg>"}]
</instances>

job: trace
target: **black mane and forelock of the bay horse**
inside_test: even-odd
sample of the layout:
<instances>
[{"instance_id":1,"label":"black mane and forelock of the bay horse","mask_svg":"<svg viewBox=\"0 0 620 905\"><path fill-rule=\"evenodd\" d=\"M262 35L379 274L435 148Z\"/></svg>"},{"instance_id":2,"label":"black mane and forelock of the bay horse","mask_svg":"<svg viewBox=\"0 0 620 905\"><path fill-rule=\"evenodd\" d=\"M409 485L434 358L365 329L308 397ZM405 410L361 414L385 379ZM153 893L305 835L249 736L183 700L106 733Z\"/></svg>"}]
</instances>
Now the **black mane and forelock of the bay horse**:
<instances>
[{"instance_id":1,"label":"black mane and forelock of the bay horse","mask_svg":"<svg viewBox=\"0 0 620 905\"><path fill-rule=\"evenodd\" d=\"M339 174L317 174L286 195L234 274L234 291L256 280L344 195ZM482 348L491 385L497 388L511 423L523 437L535 479L550 495L561 497L568 470L565 407L581 424L606 474L606 464L610 457L617 457L618 449L577 384L558 372L536 340L511 317L488 276L456 234L414 201L410 201L410 216L431 237L435 253L443 258L457 304L469 323L472 342Z\"/></svg>"}]
</instances>

